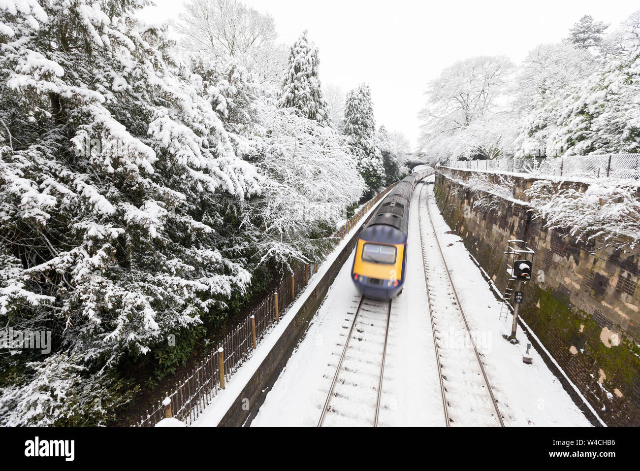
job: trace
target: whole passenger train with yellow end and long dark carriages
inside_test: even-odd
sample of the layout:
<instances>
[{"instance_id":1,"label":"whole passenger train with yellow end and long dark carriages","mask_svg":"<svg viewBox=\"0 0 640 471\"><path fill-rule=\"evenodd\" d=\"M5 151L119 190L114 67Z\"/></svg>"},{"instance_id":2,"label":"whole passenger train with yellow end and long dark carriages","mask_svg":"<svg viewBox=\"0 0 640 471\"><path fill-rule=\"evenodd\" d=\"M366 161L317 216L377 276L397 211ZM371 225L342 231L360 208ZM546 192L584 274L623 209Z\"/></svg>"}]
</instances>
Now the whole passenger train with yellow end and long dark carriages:
<instances>
[{"instance_id":1,"label":"whole passenger train with yellow end and long dark carriages","mask_svg":"<svg viewBox=\"0 0 640 471\"><path fill-rule=\"evenodd\" d=\"M435 170L419 165L397 183L360 231L351 279L358 292L374 299L391 299L402 291L406 268L409 206L418 182Z\"/></svg>"}]
</instances>

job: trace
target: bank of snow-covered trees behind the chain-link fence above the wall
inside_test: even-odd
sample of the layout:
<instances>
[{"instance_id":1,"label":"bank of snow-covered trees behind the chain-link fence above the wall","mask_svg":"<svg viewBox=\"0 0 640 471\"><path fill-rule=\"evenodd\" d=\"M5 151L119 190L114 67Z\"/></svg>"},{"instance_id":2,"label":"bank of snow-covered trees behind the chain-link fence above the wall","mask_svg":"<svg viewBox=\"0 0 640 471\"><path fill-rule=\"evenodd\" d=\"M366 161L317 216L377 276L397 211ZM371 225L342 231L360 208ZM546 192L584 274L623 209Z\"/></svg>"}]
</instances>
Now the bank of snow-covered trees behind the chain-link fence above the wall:
<instances>
[{"instance_id":1,"label":"bank of snow-covered trees behind the chain-link fence above the wall","mask_svg":"<svg viewBox=\"0 0 640 471\"><path fill-rule=\"evenodd\" d=\"M538 45L516 74L504 58L445 69L420 113L429 161L639 151L639 25L633 13L601 41L607 26L585 16L571 40Z\"/></svg>"}]
</instances>

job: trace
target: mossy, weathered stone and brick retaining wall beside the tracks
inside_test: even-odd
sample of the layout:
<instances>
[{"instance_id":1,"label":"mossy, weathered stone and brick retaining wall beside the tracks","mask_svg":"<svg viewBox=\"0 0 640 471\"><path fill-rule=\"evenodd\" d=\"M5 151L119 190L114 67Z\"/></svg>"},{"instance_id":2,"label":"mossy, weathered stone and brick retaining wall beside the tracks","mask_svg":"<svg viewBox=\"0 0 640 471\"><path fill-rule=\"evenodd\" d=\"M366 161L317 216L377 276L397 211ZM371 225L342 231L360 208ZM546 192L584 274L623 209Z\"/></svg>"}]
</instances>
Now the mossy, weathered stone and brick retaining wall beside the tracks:
<instances>
[{"instance_id":1,"label":"mossy, weathered stone and brick retaining wall beside the tracks","mask_svg":"<svg viewBox=\"0 0 640 471\"><path fill-rule=\"evenodd\" d=\"M521 180L516 188L531 186ZM508 240L536 251L522 318L607 425L640 426L640 248L548 231L526 204L472 194L441 173L435 192L444 219L502 292ZM474 208L479 197L500 210Z\"/></svg>"}]
</instances>

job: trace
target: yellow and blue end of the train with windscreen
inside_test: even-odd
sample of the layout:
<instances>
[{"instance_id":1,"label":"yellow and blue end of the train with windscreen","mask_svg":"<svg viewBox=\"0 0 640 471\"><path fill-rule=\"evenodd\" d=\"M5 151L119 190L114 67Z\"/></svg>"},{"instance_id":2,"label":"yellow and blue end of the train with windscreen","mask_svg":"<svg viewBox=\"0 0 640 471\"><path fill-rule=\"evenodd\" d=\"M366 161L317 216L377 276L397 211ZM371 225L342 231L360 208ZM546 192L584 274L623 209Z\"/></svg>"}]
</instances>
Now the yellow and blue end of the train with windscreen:
<instances>
[{"instance_id":1,"label":"yellow and blue end of the train with windscreen","mask_svg":"<svg viewBox=\"0 0 640 471\"><path fill-rule=\"evenodd\" d=\"M382 219L382 218L376 218ZM402 290L406 234L388 224L371 224L358 238L351 279L367 297L391 299Z\"/></svg>"}]
</instances>

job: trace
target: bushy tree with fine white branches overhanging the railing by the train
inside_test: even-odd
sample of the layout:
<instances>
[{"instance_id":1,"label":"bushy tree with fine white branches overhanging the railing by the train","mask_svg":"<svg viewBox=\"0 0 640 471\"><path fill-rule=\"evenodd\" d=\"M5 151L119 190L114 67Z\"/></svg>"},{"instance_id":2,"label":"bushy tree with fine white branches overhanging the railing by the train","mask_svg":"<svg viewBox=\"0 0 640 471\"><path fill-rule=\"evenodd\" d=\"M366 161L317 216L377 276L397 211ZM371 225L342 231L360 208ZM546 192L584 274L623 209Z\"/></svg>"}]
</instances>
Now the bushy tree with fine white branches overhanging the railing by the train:
<instances>
[{"instance_id":1,"label":"bushy tree with fine white branches overhanging the railing by the train","mask_svg":"<svg viewBox=\"0 0 640 471\"><path fill-rule=\"evenodd\" d=\"M288 269L292 261L317 261L365 183L346 137L291 108L260 106L262 152L254 163L264 176L262 194L250 201L260 262Z\"/></svg>"}]
</instances>

